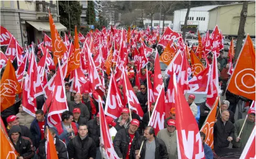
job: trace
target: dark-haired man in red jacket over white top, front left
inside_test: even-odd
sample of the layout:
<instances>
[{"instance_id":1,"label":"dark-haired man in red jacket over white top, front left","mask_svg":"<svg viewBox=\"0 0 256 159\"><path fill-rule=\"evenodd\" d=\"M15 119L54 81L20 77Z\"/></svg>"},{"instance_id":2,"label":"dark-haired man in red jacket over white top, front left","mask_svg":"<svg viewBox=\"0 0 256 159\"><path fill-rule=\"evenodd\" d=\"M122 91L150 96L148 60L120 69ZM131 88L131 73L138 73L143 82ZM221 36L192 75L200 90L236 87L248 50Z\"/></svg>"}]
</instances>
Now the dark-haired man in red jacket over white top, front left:
<instances>
[{"instance_id":1,"label":"dark-haired man in red jacket over white top, front left","mask_svg":"<svg viewBox=\"0 0 256 159\"><path fill-rule=\"evenodd\" d=\"M73 121L73 113L65 111L61 115L61 123L55 125L54 131L60 140L69 144L70 139L74 138L77 134L77 124Z\"/></svg>"}]
</instances>

